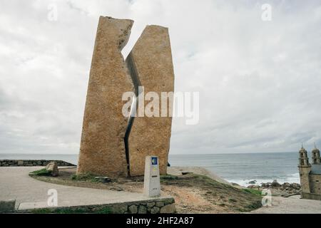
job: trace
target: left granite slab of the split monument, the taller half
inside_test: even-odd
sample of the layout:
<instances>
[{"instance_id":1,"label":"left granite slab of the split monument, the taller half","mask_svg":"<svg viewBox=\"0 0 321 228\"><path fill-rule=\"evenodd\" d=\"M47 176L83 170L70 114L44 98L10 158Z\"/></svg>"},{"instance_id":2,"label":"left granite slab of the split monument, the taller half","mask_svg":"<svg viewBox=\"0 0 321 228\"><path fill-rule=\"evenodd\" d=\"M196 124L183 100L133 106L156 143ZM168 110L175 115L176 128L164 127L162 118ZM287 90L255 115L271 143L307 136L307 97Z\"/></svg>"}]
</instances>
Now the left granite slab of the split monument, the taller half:
<instances>
[{"instance_id":1,"label":"left granite slab of the split monument, the taller half","mask_svg":"<svg viewBox=\"0 0 321 228\"><path fill-rule=\"evenodd\" d=\"M77 173L126 177L124 135L128 118L122 95L133 91L121 49L133 21L101 16L91 62ZM144 160L145 161L145 160Z\"/></svg>"}]
</instances>

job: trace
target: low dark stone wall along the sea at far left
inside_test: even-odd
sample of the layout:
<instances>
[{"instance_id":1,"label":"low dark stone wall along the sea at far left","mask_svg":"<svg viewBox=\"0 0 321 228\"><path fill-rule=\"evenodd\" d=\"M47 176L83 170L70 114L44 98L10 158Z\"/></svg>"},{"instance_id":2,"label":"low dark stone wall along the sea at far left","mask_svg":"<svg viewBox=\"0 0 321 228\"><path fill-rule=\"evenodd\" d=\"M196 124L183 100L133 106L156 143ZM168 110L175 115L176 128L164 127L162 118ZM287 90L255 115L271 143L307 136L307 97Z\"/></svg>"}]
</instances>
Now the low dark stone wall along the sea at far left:
<instances>
[{"instance_id":1,"label":"low dark stone wall along the sea at far left","mask_svg":"<svg viewBox=\"0 0 321 228\"><path fill-rule=\"evenodd\" d=\"M58 166L75 166L61 160L0 160L0 166L46 166L49 162L56 162Z\"/></svg>"}]
</instances>

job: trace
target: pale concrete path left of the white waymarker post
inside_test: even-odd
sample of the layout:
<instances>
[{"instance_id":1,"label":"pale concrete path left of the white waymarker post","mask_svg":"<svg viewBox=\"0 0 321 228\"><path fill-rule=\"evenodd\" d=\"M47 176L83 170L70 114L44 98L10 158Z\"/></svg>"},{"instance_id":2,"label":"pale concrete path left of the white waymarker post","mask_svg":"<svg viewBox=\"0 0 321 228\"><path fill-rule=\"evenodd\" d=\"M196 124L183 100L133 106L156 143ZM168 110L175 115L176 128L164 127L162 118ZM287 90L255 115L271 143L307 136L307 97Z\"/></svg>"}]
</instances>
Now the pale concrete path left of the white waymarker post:
<instances>
[{"instance_id":1,"label":"pale concrete path left of the white waymarker post","mask_svg":"<svg viewBox=\"0 0 321 228\"><path fill-rule=\"evenodd\" d=\"M41 168L0 167L0 200L16 199L17 209L48 207L49 190L57 190L58 207L151 199L138 193L55 185L29 177L29 172Z\"/></svg>"}]
</instances>

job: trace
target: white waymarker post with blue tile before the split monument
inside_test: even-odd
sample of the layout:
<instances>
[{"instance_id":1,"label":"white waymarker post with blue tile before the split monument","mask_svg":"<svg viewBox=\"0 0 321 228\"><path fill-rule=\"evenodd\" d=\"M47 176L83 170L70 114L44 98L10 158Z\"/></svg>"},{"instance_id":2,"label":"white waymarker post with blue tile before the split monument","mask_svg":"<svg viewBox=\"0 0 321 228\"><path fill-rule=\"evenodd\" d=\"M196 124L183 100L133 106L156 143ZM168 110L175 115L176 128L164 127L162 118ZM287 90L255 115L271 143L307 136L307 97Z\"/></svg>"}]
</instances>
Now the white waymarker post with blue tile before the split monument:
<instances>
[{"instance_id":1,"label":"white waymarker post with blue tile before the split monument","mask_svg":"<svg viewBox=\"0 0 321 228\"><path fill-rule=\"evenodd\" d=\"M159 165L157 156L146 156L144 195L147 197L161 196L161 180L159 177Z\"/></svg>"}]
</instances>

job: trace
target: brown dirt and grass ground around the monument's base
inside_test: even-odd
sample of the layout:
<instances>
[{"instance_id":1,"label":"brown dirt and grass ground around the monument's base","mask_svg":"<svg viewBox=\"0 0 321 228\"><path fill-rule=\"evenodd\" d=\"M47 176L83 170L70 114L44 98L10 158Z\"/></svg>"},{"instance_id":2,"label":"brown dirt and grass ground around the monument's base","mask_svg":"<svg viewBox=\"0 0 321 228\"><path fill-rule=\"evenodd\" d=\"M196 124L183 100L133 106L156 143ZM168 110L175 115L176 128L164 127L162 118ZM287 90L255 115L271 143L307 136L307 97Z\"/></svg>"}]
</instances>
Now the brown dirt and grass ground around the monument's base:
<instances>
[{"instance_id":1,"label":"brown dirt and grass ground around the monument's base","mask_svg":"<svg viewBox=\"0 0 321 228\"><path fill-rule=\"evenodd\" d=\"M177 170L176 170L177 171ZM58 177L36 176L58 185L90 187L126 192L143 192L143 177L99 182L93 175L76 176L76 167L60 168ZM161 176L162 195L175 198L178 213L240 213L261 207L260 192L244 190L212 178L188 172Z\"/></svg>"}]
</instances>

